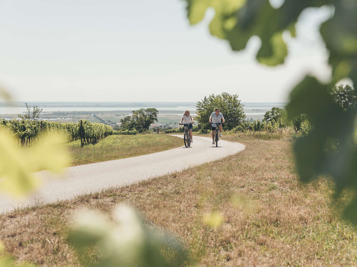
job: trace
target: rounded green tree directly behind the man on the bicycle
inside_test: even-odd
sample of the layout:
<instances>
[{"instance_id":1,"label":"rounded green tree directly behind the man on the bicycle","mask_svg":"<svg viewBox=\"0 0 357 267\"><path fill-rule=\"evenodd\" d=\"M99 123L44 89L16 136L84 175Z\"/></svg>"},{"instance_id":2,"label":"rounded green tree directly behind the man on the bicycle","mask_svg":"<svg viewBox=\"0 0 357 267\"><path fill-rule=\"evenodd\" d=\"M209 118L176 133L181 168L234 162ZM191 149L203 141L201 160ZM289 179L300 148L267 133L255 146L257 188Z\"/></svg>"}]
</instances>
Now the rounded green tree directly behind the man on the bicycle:
<instances>
[{"instance_id":1,"label":"rounded green tree directly behind the man on the bicycle","mask_svg":"<svg viewBox=\"0 0 357 267\"><path fill-rule=\"evenodd\" d=\"M197 116L195 120L202 126L202 129L211 129L208 121L216 108L219 108L220 112L222 112L225 118L223 126L228 130L238 126L246 119L246 115L243 112L243 104L241 104L241 100L238 99L237 94L231 95L225 92L220 95L212 94L208 97L205 96L205 98L196 104Z\"/></svg>"}]
</instances>

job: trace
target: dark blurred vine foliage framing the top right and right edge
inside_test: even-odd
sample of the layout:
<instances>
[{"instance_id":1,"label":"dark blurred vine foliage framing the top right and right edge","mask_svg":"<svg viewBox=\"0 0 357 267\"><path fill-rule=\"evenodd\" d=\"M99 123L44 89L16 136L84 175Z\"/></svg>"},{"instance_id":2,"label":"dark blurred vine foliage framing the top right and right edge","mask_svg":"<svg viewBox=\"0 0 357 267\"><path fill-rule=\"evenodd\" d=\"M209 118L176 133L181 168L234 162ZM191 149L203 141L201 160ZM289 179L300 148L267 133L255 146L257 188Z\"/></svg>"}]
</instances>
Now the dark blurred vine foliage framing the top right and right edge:
<instances>
[{"instance_id":1,"label":"dark blurred vine foliage framing the top right and right edge","mask_svg":"<svg viewBox=\"0 0 357 267\"><path fill-rule=\"evenodd\" d=\"M291 92L286 106L288 119L300 114L309 117L314 125L311 132L295 144L297 167L303 181L311 181L319 174L331 175L337 193L347 187L357 190L357 136L355 121L357 108L343 111L336 105L327 88L339 80L350 77L357 82L357 5L352 0L285 0L273 9L268 0L186 0L187 15L191 24L198 23L208 7L215 9L210 23L213 35L229 41L233 50L245 48L248 39L257 35L262 46L258 61L276 65L286 56L282 31L295 35L294 27L301 11L308 7L331 6L331 17L320 27L329 64L332 67L330 83L321 84L315 78L305 77ZM343 104L346 108L346 105ZM348 105L350 107L350 104ZM304 126L305 127L305 126ZM329 140L339 140L339 150L329 153L325 149ZM346 209L346 218L357 224L357 197Z\"/></svg>"}]
</instances>

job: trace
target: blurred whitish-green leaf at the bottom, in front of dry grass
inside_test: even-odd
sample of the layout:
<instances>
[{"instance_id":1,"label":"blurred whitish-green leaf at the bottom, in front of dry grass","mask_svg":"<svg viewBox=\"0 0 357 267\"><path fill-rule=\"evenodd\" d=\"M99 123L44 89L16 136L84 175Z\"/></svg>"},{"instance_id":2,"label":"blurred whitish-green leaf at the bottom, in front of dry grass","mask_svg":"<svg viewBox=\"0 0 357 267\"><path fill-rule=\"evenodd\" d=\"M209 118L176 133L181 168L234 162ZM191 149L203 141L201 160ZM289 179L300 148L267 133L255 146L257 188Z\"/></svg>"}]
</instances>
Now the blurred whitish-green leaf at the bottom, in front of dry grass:
<instances>
[{"instance_id":1,"label":"blurred whitish-green leaf at the bottom, in front of dry grass","mask_svg":"<svg viewBox=\"0 0 357 267\"><path fill-rule=\"evenodd\" d=\"M186 260L176 241L144 227L130 207L118 205L113 218L116 223L104 214L82 210L74 217L69 239L81 253L86 246L97 246L101 253L99 266L181 266ZM166 247L175 251L174 260L162 255Z\"/></svg>"}]
</instances>

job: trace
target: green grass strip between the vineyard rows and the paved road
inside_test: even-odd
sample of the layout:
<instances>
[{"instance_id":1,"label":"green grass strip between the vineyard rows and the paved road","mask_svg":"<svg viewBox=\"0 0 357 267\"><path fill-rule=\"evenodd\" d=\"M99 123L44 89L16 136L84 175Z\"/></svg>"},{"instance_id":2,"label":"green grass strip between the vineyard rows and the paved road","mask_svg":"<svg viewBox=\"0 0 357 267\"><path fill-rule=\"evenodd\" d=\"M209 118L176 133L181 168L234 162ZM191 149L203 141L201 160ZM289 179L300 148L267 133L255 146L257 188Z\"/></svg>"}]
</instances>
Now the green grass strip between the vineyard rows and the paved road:
<instances>
[{"instance_id":1,"label":"green grass strip between the vineyard rows and the paved road","mask_svg":"<svg viewBox=\"0 0 357 267\"><path fill-rule=\"evenodd\" d=\"M81 141L65 145L71 165L81 165L112 159L136 157L183 146L181 138L164 134L111 135L95 145L81 147Z\"/></svg>"}]
</instances>

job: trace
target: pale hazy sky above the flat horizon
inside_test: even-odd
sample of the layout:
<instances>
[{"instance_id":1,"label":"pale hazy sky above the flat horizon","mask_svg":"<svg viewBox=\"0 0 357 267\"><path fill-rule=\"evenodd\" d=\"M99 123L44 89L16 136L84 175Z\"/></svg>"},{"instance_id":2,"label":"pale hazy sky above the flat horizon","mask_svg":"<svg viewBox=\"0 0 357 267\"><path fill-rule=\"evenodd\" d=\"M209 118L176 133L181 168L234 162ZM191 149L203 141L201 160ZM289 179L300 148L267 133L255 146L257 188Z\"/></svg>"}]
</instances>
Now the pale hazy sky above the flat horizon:
<instances>
[{"instance_id":1,"label":"pale hazy sky above the flat horizon","mask_svg":"<svg viewBox=\"0 0 357 267\"><path fill-rule=\"evenodd\" d=\"M273 102L286 101L306 73L329 79L317 34L327 8L304 12L298 38L285 36L286 63L271 68L255 60L259 38L232 52L209 33L213 10L189 26L185 7L183 0L2 0L0 84L17 101L197 101L227 91L243 102Z\"/></svg>"}]
</instances>

